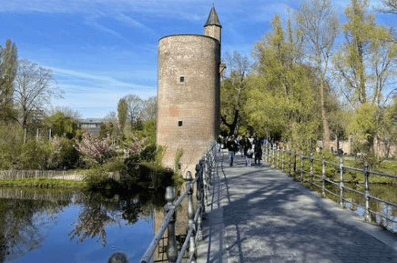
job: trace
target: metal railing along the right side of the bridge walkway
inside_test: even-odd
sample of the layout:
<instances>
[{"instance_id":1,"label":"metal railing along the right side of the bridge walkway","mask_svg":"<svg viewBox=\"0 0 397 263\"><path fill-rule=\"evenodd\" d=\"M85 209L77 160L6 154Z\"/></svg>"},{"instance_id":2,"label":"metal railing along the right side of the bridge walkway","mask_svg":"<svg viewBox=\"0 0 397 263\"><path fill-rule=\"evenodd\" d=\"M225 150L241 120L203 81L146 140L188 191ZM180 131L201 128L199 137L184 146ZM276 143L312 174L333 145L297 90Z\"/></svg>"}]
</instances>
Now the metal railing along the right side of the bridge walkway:
<instances>
[{"instance_id":1,"label":"metal railing along the right side of the bridge walkway","mask_svg":"<svg viewBox=\"0 0 397 263\"><path fill-rule=\"evenodd\" d=\"M374 216L380 216L381 218L384 218L386 221L391 221L394 223L397 223L396 218L391 218L389 217L388 214L381 214L377 211L374 211L370 208L370 200L373 200L375 202L380 202L384 203L387 205L390 205L392 207L397 207L397 204L388 200L385 200L380 197L375 197L371 195L370 192L370 178L373 176L378 176L378 177L387 177L393 180L397 180L397 176L386 174L386 173L381 173L381 172L376 172L376 171L370 171L369 165L367 162L365 162L363 169L358 169L354 167L349 167L344 165L343 159L340 157L339 158L339 163L333 163L330 161L327 161L325 157L323 156L321 159L315 159L314 154L310 153L309 156L305 156L303 152L297 157L297 152L296 151L291 151L291 150L285 150L281 149L278 145L276 144L267 144L264 146L264 152L265 152L265 162L269 164L272 167L279 168L281 169L282 172L285 172L289 176L293 176L293 178L297 181L300 181L301 184L304 183L304 177L305 175L309 176L309 180L306 181L308 182L311 186L318 187L321 189L321 195L322 197L327 197L327 194L331 194L332 196L336 197L338 199L338 203L341 207L344 207L344 202L350 202L354 205L357 205L359 207L362 207L364 209L364 219L366 222L371 222L371 214ZM281 157L280 157L281 155ZM288 156L286 158L286 156ZM298 171L297 169L297 158L300 159L300 170ZM281 160L280 160L281 159ZM308 161L309 162L309 170L305 170L304 167L304 162ZM321 163L321 175L316 174L314 172L314 162L320 162ZM287 170L285 169L287 167ZM327 167L333 167L335 170L338 172L338 182L332 181L329 177L327 177L326 174L326 168ZM359 191L356 189L352 189L350 187L346 187L344 185L345 181L345 174L349 173L359 173L363 176L364 178L364 191ZM317 179L317 180L315 180ZM321 184L318 184L318 182L321 182ZM396 181L397 182L397 181ZM338 189L338 194L333 193L332 191L328 190L326 188L326 185L334 185ZM365 204L359 204L357 202L354 202L353 200L345 198L344 191L350 191L352 193L355 193L361 197L364 198Z\"/></svg>"}]
</instances>

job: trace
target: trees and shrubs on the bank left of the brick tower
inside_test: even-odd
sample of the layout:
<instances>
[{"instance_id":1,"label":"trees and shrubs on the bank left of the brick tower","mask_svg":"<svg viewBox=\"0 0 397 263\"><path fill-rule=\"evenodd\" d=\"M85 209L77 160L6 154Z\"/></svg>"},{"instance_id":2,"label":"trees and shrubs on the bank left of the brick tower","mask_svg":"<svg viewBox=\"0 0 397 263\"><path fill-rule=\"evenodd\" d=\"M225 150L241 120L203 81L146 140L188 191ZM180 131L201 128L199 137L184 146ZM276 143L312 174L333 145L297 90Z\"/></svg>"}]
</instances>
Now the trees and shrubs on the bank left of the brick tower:
<instances>
[{"instance_id":1,"label":"trees and shrubs on the bank left of the brick tower","mask_svg":"<svg viewBox=\"0 0 397 263\"><path fill-rule=\"evenodd\" d=\"M0 170L12 175L28 170L37 179L2 180L4 186L157 189L180 177L161 166L164 149L155 144L156 97L126 95L117 113L110 112L99 132L90 133L80 126L78 112L51 107L51 100L63 94L52 71L18 59L10 40L0 47L0 80ZM44 173L39 171L49 170L58 175L74 170L84 182L40 178Z\"/></svg>"}]
</instances>

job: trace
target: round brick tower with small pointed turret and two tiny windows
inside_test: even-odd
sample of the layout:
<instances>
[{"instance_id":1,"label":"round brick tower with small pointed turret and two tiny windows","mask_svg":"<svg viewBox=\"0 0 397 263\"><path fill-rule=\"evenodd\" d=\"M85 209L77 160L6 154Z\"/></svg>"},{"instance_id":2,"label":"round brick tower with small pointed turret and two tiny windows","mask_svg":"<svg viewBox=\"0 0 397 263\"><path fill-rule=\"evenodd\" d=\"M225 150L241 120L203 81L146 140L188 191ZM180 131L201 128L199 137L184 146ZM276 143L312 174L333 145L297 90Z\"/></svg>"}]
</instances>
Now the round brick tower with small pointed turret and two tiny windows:
<instances>
[{"instance_id":1,"label":"round brick tower with small pointed turret and two tiny windows","mask_svg":"<svg viewBox=\"0 0 397 263\"><path fill-rule=\"evenodd\" d=\"M158 45L157 145L166 147L163 165L181 172L194 167L219 132L222 26L212 7L204 35L163 37Z\"/></svg>"}]
</instances>

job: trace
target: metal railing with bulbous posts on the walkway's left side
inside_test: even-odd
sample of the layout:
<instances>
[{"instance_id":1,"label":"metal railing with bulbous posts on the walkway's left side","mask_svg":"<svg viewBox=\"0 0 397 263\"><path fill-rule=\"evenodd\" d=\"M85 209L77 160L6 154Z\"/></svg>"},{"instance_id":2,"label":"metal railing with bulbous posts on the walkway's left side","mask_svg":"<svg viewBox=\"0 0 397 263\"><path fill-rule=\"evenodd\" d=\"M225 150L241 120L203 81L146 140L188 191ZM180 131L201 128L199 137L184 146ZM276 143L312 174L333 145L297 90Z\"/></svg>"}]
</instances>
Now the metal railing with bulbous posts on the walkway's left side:
<instances>
[{"instance_id":1,"label":"metal railing with bulbous posts on the walkway's left side","mask_svg":"<svg viewBox=\"0 0 397 263\"><path fill-rule=\"evenodd\" d=\"M192 173L186 173L186 190L175 200L175 190L167 187L165 199L167 204L164 206L164 220L157 233L154 235L149 247L146 249L140 263L149 263L153 254L167 229L167 259L169 263L181 263L185 252L189 248L188 263L196 262L197 249L196 243L202 239L202 220L205 218L205 204L208 203L208 190L212 181L213 169L216 166L216 143L213 142L208 147L204 157L196 165L196 177L193 179ZM197 204L194 209L193 192L196 184ZM175 224L177 221L177 208L182 201L188 198L188 232L180 251L177 249Z\"/></svg>"}]
</instances>

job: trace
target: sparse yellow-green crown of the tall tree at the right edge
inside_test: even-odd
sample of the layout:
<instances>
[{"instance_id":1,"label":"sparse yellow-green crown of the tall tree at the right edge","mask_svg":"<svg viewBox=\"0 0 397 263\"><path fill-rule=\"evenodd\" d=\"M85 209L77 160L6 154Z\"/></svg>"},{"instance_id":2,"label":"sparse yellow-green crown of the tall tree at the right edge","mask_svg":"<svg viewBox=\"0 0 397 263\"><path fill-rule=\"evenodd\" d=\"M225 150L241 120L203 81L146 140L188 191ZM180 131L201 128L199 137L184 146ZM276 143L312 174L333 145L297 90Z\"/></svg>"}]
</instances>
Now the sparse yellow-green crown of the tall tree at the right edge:
<instances>
[{"instance_id":1,"label":"sparse yellow-green crown of the tall tree at the right edge","mask_svg":"<svg viewBox=\"0 0 397 263\"><path fill-rule=\"evenodd\" d=\"M333 62L343 84L342 92L353 108L364 103L384 105L388 81L396 78L396 45L391 32L376 25L367 11L368 2L352 0L343 26L346 44Z\"/></svg>"}]
</instances>

